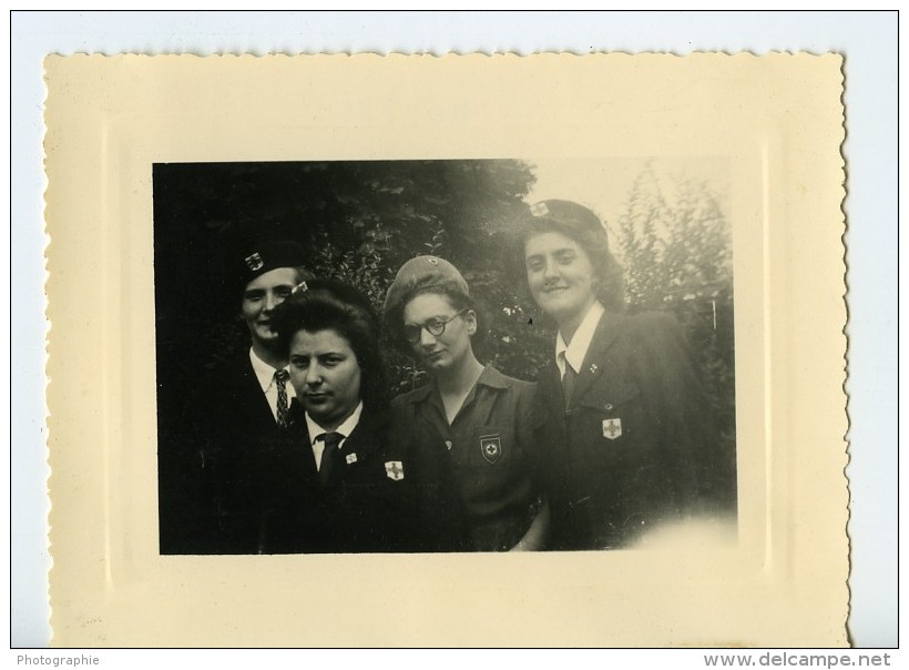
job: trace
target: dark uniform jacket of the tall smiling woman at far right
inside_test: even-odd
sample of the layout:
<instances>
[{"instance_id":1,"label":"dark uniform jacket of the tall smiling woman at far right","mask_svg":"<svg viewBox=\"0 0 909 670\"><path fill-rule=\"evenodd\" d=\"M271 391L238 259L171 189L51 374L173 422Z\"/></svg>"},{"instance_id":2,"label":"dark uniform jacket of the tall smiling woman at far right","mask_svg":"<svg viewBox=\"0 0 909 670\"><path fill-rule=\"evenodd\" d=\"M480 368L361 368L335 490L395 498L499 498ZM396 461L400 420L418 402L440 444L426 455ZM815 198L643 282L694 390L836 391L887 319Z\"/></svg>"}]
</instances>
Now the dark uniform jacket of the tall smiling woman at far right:
<instances>
[{"instance_id":1,"label":"dark uniform jacket of the tall smiling woman at far right","mask_svg":"<svg viewBox=\"0 0 909 670\"><path fill-rule=\"evenodd\" d=\"M568 409L554 362L537 398L551 548L621 548L722 499L731 475L671 316L604 313Z\"/></svg>"}]
</instances>

